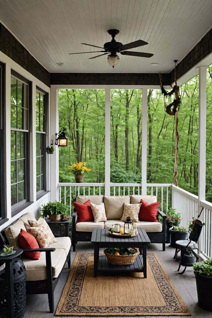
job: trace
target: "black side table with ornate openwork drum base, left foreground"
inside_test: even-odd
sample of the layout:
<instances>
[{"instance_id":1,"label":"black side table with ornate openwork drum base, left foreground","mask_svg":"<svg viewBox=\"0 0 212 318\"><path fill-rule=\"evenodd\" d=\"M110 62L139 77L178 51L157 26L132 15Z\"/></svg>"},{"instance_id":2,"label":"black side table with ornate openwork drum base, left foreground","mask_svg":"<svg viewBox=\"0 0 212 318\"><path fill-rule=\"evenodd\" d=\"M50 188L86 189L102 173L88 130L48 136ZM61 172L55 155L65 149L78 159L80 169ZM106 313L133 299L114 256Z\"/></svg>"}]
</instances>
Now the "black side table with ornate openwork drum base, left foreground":
<instances>
[{"instance_id":1,"label":"black side table with ornate openwork drum base, left foreground","mask_svg":"<svg viewBox=\"0 0 212 318\"><path fill-rule=\"evenodd\" d=\"M7 290L5 293L5 296L7 295L7 297L5 300L8 307L8 317L21 318L24 316L26 309L25 270L22 260L17 257L23 253L23 250L17 249L14 251L16 251L14 254L0 256L1 264L5 263L5 271L1 271L1 278L4 277L3 280ZM0 254L1 253L3 253L3 250L0 250ZM19 283L21 283L21 285ZM18 285L17 290L15 291L16 297L14 297L15 284ZM2 311L3 310L1 310L1 312Z\"/></svg>"}]
</instances>

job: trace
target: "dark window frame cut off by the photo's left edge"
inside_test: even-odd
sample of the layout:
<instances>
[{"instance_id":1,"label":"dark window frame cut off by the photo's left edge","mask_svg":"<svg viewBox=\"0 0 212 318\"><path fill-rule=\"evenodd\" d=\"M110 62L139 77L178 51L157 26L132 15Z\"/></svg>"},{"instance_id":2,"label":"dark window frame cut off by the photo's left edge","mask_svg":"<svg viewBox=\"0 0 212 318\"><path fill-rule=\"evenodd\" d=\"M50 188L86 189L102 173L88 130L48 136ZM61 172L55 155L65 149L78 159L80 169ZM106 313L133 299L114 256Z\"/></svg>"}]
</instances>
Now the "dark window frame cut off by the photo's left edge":
<instances>
[{"instance_id":1,"label":"dark window frame cut off by the photo's left edge","mask_svg":"<svg viewBox=\"0 0 212 318\"><path fill-rule=\"evenodd\" d=\"M0 225L8 221L6 218L6 107L5 107L5 64L0 62Z\"/></svg>"}]
</instances>

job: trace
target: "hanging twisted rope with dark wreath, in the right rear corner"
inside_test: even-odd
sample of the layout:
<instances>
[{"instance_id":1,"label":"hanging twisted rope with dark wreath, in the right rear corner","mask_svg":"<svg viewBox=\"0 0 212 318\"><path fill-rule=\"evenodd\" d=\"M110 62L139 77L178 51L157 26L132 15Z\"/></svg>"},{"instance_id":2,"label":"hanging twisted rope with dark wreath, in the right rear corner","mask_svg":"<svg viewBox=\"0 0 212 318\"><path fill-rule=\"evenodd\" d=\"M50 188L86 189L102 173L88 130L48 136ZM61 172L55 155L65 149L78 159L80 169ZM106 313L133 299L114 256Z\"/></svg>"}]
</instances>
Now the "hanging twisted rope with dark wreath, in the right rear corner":
<instances>
[{"instance_id":1,"label":"hanging twisted rope with dark wreath, in the right rear corner","mask_svg":"<svg viewBox=\"0 0 212 318\"><path fill-rule=\"evenodd\" d=\"M177 60L174 60L175 62L175 68L174 68L174 87L170 92L167 92L165 88L163 87L163 80L162 75L159 73L160 78L160 85L161 85L161 93L167 97L172 96L174 94L175 99L172 103L165 106L165 110L167 114L174 115L175 116L175 160L174 160L174 185L178 187L177 182L177 162L178 162L178 142L180 140L180 135L178 133L178 111L179 111L179 105L181 103L181 98L179 94L179 86L177 86L177 78L176 78L176 63Z\"/></svg>"}]
</instances>

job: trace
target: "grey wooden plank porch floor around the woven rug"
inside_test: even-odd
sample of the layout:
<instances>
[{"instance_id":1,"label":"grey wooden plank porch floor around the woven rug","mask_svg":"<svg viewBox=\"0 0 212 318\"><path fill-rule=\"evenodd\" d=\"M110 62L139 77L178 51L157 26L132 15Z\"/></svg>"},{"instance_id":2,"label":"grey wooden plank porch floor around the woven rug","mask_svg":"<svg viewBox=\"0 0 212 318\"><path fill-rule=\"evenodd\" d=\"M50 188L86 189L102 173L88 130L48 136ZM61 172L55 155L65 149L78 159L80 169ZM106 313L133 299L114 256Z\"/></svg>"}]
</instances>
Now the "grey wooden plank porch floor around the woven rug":
<instances>
[{"instance_id":1,"label":"grey wooden plank porch floor around the woven rug","mask_svg":"<svg viewBox=\"0 0 212 318\"><path fill-rule=\"evenodd\" d=\"M163 264L165 270L167 271L169 277L173 281L175 287L178 292L181 294L182 299L185 301L188 306L191 316L178 316L182 317L192 317L192 318L211 318L212 313L202 310L197 306L197 293L196 293L196 283L195 277L193 273L192 267L187 267L186 272L181 276L177 274L178 263L176 263L173 259L174 249L170 247L168 244L166 246L166 251L161 251L161 244L150 244L147 246L147 252L156 252L158 258ZM80 242L76 245L76 252L81 253L91 253L93 252L93 245L90 242ZM75 258L76 252L71 252L71 263ZM60 276L60 280L55 288L54 292L54 301L55 301L55 310L58 305L58 301L60 300L63 288L65 286L65 282L67 280L69 274L69 269L67 266L64 268L63 273ZM26 313L24 318L49 318L56 317L54 314L49 313L48 306L48 297L46 294L44 295L27 295L26 296ZM57 316L58 317L58 316ZM72 316L62 316L63 318L70 318ZM61 318L62 318L61 317ZM83 316L84 318L92 318L90 316ZM113 316L114 317L114 316ZM114 318L130 318L129 316L117 316ZM133 316L134 318L138 318L139 316ZM144 317L144 316L142 316ZM156 316L146 316L148 318L156 317ZM174 316L158 316L160 318L164 317L174 317ZM79 318L79 316L73 316L73 318ZM101 318L101 317L99 317Z\"/></svg>"}]
</instances>

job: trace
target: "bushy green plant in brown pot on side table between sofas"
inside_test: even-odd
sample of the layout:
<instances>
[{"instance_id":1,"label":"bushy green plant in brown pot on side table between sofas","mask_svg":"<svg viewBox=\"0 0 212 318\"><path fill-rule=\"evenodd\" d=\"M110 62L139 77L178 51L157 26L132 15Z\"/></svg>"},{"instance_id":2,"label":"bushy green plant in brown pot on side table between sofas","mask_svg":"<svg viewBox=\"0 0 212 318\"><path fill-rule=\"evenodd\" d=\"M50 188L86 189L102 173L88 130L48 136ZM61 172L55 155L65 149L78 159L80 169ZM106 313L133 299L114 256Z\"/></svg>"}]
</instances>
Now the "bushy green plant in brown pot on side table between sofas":
<instances>
[{"instance_id":1,"label":"bushy green plant in brown pot on side table between sofas","mask_svg":"<svg viewBox=\"0 0 212 318\"><path fill-rule=\"evenodd\" d=\"M57 221L60 219L61 214L63 215L65 212L65 204L55 201L42 204L40 215L42 218L49 216L51 221Z\"/></svg>"}]
</instances>

